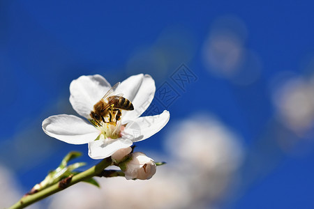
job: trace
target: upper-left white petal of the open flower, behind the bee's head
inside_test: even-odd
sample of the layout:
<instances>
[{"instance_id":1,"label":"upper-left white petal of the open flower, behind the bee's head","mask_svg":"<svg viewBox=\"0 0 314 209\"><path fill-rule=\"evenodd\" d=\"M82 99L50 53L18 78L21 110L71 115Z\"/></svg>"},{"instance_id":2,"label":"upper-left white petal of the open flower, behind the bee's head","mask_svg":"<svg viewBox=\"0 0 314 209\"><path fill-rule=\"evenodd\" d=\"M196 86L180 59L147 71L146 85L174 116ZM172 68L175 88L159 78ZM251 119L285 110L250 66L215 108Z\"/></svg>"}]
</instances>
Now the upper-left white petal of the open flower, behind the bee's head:
<instances>
[{"instance_id":1,"label":"upper-left white petal of the open flower, behind the bee's head","mask_svg":"<svg viewBox=\"0 0 314 209\"><path fill-rule=\"evenodd\" d=\"M103 98L110 88L110 84L101 75L83 75L70 84L70 103L77 114L90 118L94 104Z\"/></svg>"}]
</instances>

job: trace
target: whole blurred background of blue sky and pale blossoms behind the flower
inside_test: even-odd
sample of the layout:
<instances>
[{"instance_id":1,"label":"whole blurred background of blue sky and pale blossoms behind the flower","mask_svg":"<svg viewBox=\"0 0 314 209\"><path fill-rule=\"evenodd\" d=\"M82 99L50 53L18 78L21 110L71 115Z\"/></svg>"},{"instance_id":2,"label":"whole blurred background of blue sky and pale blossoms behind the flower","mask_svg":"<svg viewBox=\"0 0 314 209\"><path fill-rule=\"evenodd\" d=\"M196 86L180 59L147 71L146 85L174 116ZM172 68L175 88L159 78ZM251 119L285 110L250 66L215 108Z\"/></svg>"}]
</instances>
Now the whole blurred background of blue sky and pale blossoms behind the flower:
<instances>
[{"instance_id":1,"label":"whole blurred background of blue sky and pale blossoms behind the flower","mask_svg":"<svg viewBox=\"0 0 314 209\"><path fill-rule=\"evenodd\" d=\"M0 1L0 208L87 145L45 135L75 114L69 84L147 73L144 115L169 123L136 150L151 180L80 183L30 208L314 208L313 1ZM167 93L167 94L165 94Z\"/></svg>"}]
</instances>

